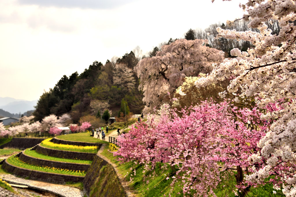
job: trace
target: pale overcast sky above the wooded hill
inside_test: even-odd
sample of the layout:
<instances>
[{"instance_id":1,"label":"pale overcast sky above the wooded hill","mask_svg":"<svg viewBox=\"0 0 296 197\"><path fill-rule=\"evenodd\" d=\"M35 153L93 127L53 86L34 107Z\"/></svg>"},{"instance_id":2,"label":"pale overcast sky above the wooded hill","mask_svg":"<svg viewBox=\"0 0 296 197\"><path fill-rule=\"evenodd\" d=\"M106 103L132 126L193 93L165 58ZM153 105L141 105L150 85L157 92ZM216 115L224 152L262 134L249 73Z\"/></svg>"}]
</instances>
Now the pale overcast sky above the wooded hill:
<instances>
[{"instance_id":1,"label":"pale overcast sky above the wooded hill","mask_svg":"<svg viewBox=\"0 0 296 197\"><path fill-rule=\"evenodd\" d=\"M190 28L242 16L238 0L0 0L0 97L37 100L63 75ZM0 104L1 105L1 104Z\"/></svg>"}]
</instances>

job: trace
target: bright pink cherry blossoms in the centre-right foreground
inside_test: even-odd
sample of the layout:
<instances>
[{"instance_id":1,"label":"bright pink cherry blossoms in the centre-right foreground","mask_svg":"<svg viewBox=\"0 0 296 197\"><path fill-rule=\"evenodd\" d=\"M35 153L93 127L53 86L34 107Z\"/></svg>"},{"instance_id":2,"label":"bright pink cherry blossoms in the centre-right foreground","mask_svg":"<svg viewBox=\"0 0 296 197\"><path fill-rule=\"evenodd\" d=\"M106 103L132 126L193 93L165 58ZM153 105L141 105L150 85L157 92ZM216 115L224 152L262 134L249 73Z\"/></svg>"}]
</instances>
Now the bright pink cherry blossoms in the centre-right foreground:
<instances>
[{"instance_id":1,"label":"bright pink cherry blossoms in the centre-right foreground","mask_svg":"<svg viewBox=\"0 0 296 197\"><path fill-rule=\"evenodd\" d=\"M184 195L215 196L213 189L220 181L218 162L224 163L223 169L248 167L250 154L260 150L257 143L267 126L259 116L258 109L238 109L226 101L204 101L180 111L164 106L119 137L120 148L114 155L147 169L157 163L177 166L173 183L181 180Z\"/></svg>"}]
</instances>

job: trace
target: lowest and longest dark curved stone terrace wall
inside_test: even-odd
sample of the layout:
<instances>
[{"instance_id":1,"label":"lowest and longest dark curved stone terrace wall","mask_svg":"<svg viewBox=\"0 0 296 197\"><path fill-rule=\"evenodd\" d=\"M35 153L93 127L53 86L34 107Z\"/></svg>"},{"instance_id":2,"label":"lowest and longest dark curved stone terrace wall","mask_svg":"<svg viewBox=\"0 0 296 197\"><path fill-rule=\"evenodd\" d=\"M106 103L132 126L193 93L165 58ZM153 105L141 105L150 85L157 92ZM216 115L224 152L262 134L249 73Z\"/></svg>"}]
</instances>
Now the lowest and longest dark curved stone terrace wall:
<instances>
[{"instance_id":1,"label":"lowest and longest dark curved stone terrace wall","mask_svg":"<svg viewBox=\"0 0 296 197\"><path fill-rule=\"evenodd\" d=\"M61 175L61 174L40 172L36 170L20 168L7 163L7 161L3 163L2 168L7 170L7 172L10 172L14 175L17 175L23 178L29 177L32 180L45 181L48 183L64 184L70 181L73 183L76 183L76 182L82 182L84 179L84 177L80 177L80 176Z\"/></svg>"}]
</instances>

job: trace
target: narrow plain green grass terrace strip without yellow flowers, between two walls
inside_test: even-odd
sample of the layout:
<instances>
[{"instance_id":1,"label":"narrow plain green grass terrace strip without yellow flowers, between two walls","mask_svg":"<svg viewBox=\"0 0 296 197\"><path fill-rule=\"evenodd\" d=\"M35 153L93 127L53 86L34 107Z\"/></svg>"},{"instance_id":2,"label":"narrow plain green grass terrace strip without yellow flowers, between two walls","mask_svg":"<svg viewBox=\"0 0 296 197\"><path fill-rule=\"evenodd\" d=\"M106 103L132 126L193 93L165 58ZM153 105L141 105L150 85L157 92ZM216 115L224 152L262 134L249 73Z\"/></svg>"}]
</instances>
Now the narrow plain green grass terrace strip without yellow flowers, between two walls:
<instances>
[{"instance_id":1,"label":"narrow plain green grass terrace strip without yellow flowers, between two walls","mask_svg":"<svg viewBox=\"0 0 296 197\"><path fill-rule=\"evenodd\" d=\"M91 164L92 161L89 160L79 160L79 159L64 159L64 158L57 158L52 156L47 156L44 154L37 153L36 151L30 151L29 149L26 149L24 153L28 156L39 158L39 159L46 159L51 161L57 161L57 162L70 162L70 163L77 163L77 164Z\"/></svg>"}]
</instances>

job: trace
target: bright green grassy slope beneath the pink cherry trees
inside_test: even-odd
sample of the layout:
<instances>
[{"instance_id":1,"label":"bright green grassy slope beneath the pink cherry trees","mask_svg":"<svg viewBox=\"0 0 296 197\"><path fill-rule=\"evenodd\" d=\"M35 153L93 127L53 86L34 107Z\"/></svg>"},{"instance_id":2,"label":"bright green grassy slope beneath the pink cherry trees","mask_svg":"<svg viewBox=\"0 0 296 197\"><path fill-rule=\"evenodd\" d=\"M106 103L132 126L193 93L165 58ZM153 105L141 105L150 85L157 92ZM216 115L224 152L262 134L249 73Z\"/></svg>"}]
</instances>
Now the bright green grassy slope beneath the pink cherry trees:
<instances>
[{"instance_id":1,"label":"bright green grassy slope beneath the pink cherry trees","mask_svg":"<svg viewBox=\"0 0 296 197\"><path fill-rule=\"evenodd\" d=\"M145 171L143 165L134 164L133 162L120 163L116 160L116 157L108 151L108 146L105 147L102 154L106 156L112 163L118 166L119 173L126 176L126 180L130 181L131 188L136 190L138 196L168 196L171 190L171 196L183 196L180 183L175 183L171 185L173 179L172 177L176 173L168 166L162 164L161 169L157 165L156 169L153 171ZM112 149L112 148L111 148ZM134 173L136 172L136 173ZM154 177L152 176L154 174ZM146 178L145 178L146 177ZM169 177L166 180L166 177ZM221 174L221 182L218 187L214 190L216 196L230 196L234 197L233 191L235 188L236 180L233 175ZM281 190L277 190L276 194L273 194L273 187L271 184L266 184L264 186L252 187L246 197L265 197L265 196L284 196ZM186 196L190 196L186 194Z\"/></svg>"}]
</instances>

